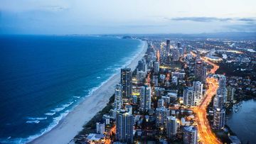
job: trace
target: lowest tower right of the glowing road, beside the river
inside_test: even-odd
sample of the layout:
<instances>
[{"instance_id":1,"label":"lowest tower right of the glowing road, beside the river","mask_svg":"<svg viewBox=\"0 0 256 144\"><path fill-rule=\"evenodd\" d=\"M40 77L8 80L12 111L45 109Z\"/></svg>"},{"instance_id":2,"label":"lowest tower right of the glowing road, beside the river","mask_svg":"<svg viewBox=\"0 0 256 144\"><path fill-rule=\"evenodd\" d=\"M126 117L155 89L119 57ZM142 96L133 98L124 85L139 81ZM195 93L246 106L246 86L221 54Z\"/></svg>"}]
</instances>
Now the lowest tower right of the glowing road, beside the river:
<instances>
[{"instance_id":1,"label":"lowest tower right of the glowing road, beside the river","mask_svg":"<svg viewBox=\"0 0 256 144\"><path fill-rule=\"evenodd\" d=\"M214 109L213 128L220 130L225 126L225 109Z\"/></svg>"}]
</instances>

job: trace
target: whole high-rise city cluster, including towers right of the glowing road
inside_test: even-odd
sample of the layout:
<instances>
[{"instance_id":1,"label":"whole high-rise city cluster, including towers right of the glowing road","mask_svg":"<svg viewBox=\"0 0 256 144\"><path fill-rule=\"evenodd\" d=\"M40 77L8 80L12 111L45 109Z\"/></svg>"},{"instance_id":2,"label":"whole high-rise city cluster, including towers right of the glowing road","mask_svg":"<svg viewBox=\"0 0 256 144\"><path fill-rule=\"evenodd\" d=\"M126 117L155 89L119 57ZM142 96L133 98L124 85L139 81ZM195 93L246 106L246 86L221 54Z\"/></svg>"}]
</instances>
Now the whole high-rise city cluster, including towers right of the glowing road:
<instances>
[{"instance_id":1,"label":"whole high-rise city cluster, including towers right of the glowing road","mask_svg":"<svg viewBox=\"0 0 256 144\"><path fill-rule=\"evenodd\" d=\"M122 68L110 113L96 123L97 135L88 135L93 142L200 143L191 109L206 95L206 75L212 67L201 59L203 52L191 45L185 47L171 40L148 40L148 45L134 72ZM214 48L203 57L218 61ZM225 108L235 101L236 89L227 84L225 75L213 77L218 79L218 89L209 113L213 114L212 128L222 130Z\"/></svg>"}]
</instances>

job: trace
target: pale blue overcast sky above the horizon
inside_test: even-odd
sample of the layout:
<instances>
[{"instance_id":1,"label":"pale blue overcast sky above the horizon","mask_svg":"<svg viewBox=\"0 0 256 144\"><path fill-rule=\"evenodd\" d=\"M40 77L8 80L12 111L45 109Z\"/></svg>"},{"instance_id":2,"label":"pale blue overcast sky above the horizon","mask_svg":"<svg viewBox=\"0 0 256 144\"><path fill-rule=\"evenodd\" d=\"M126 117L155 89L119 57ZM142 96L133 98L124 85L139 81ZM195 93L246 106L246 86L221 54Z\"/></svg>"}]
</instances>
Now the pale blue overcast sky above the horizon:
<instances>
[{"instance_id":1,"label":"pale blue overcast sky above the horizon","mask_svg":"<svg viewBox=\"0 0 256 144\"><path fill-rule=\"evenodd\" d=\"M0 0L0 34L255 32L255 6L255 0Z\"/></svg>"}]
</instances>

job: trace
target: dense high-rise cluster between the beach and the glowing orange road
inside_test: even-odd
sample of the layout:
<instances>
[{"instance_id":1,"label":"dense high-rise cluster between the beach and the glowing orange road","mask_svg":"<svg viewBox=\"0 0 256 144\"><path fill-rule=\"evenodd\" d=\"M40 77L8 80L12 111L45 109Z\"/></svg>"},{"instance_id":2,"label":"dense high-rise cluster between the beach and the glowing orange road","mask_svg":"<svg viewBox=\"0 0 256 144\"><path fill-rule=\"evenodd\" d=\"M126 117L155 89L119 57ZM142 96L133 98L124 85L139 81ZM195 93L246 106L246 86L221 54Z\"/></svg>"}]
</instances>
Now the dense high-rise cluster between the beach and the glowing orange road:
<instances>
[{"instance_id":1,"label":"dense high-rise cluster between the beach and the glowing orange road","mask_svg":"<svg viewBox=\"0 0 256 144\"><path fill-rule=\"evenodd\" d=\"M175 140L198 143L198 130L191 119L193 112L178 109L178 106L181 106L183 96L186 106L198 104L203 97L203 82L199 81L203 77L198 77L198 81L188 88L192 89L192 96L190 92L182 91L186 84L181 62L183 55L181 43L171 46L170 40L166 43L149 41L149 51L139 60L135 72L128 67L121 70L121 80L114 87L113 108L96 123L97 135L90 134L91 140L134 143L150 137L159 143ZM203 68L198 64L198 76L203 74ZM102 141L93 139L102 135L105 135L100 139Z\"/></svg>"}]
</instances>

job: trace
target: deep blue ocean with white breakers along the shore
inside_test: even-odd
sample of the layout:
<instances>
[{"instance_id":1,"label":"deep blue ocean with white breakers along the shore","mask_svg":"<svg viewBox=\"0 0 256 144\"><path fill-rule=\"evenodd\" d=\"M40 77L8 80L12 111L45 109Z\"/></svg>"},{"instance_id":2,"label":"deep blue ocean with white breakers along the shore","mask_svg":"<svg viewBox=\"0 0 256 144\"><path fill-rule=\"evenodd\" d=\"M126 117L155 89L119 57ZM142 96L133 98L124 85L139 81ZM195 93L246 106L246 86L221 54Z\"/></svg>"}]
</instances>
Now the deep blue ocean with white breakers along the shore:
<instances>
[{"instance_id":1,"label":"deep blue ocean with white breakers along the shore","mask_svg":"<svg viewBox=\"0 0 256 144\"><path fill-rule=\"evenodd\" d=\"M142 41L78 35L0 36L0 143L26 143L142 51Z\"/></svg>"}]
</instances>

